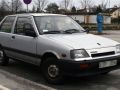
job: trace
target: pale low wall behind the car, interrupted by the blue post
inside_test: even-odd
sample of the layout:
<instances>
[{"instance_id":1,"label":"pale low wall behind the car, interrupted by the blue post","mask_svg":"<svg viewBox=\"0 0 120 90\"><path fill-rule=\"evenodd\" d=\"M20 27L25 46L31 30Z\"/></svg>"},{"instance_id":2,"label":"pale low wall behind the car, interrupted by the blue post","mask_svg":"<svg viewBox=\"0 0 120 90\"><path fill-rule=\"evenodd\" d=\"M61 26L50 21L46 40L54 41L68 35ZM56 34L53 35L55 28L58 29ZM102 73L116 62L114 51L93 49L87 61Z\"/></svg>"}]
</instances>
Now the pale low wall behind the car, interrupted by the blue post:
<instances>
[{"instance_id":1,"label":"pale low wall behind the car, interrupted by the blue post","mask_svg":"<svg viewBox=\"0 0 120 90\"><path fill-rule=\"evenodd\" d=\"M69 15L74 20L78 20L80 23L96 24L97 15ZM104 24L111 24L111 17L104 16Z\"/></svg>"}]
</instances>

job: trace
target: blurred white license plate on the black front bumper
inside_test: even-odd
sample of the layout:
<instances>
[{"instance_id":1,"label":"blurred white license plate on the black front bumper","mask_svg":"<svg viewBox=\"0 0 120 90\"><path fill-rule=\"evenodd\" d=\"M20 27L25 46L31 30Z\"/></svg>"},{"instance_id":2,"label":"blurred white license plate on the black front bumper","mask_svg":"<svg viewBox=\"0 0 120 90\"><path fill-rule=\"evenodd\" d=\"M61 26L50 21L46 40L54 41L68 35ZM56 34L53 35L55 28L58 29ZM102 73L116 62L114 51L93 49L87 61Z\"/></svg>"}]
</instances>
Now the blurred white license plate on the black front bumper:
<instances>
[{"instance_id":1,"label":"blurred white license plate on the black front bumper","mask_svg":"<svg viewBox=\"0 0 120 90\"><path fill-rule=\"evenodd\" d=\"M99 68L111 67L117 65L117 60L105 61L99 63Z\"/></svg>"}]
</instances>

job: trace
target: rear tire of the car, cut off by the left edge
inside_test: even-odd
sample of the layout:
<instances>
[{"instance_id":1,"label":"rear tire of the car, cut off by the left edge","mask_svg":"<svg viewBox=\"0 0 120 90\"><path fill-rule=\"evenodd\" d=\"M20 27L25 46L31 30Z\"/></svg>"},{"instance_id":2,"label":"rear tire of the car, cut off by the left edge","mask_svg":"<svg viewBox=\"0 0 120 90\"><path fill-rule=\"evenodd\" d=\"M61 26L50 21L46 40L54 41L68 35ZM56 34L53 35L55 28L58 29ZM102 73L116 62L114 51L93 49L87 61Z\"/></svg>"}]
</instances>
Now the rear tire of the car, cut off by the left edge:
<instances>
[{"instance_id":1,"label":"rear tire of the car, cut off by the left edge","mask_svg":"<svg viewBox=\"0 0 120 90\"><path fill-rule=\"evenodd\" d=\"M9 63L9 58L6 56L4 50L0 48L0 65L7 66Z\"/></svg>"}]
</instances>

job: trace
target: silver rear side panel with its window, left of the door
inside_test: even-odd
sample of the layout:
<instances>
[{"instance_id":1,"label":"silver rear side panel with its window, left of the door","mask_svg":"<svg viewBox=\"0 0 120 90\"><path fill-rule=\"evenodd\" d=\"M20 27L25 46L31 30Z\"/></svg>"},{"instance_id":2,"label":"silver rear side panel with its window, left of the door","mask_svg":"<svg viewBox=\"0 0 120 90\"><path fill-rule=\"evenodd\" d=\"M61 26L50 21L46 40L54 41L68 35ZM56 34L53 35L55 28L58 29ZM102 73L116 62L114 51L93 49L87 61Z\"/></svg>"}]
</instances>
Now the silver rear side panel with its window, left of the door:
<instances>
[{"instance_id":1,"label":"silver rear side panel with its window, left of the door","mask_svg":"<svg viewBox=\"0 0 120 90\"><path fill-rule=\"evenodd\" d=\"M12 29L15 23L15 16L6 17L0 25L0 44L7 55L11 52L8 50L11 44Z\"/></svg>"}]
</instances>

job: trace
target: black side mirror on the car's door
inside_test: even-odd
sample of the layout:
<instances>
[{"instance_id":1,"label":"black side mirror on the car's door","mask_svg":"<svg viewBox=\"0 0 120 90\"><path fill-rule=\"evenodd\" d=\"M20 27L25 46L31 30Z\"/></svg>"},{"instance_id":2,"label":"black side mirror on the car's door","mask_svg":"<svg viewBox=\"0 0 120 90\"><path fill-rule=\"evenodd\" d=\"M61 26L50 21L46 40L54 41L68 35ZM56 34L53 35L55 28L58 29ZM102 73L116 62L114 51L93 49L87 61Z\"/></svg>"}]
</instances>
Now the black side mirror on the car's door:
<instances>
[{"instance_id":1,"label":"black side mirror on the car's door","mask_svg":"<svg viewBox=\"0 0 120 90\"><path fill-rule=\"evenodd\" d=\"M30 23L25 23L23 26L24 32L26 36L36 37L36 33L34 31L34 28Z\"/></svg>"}]
</instances>

